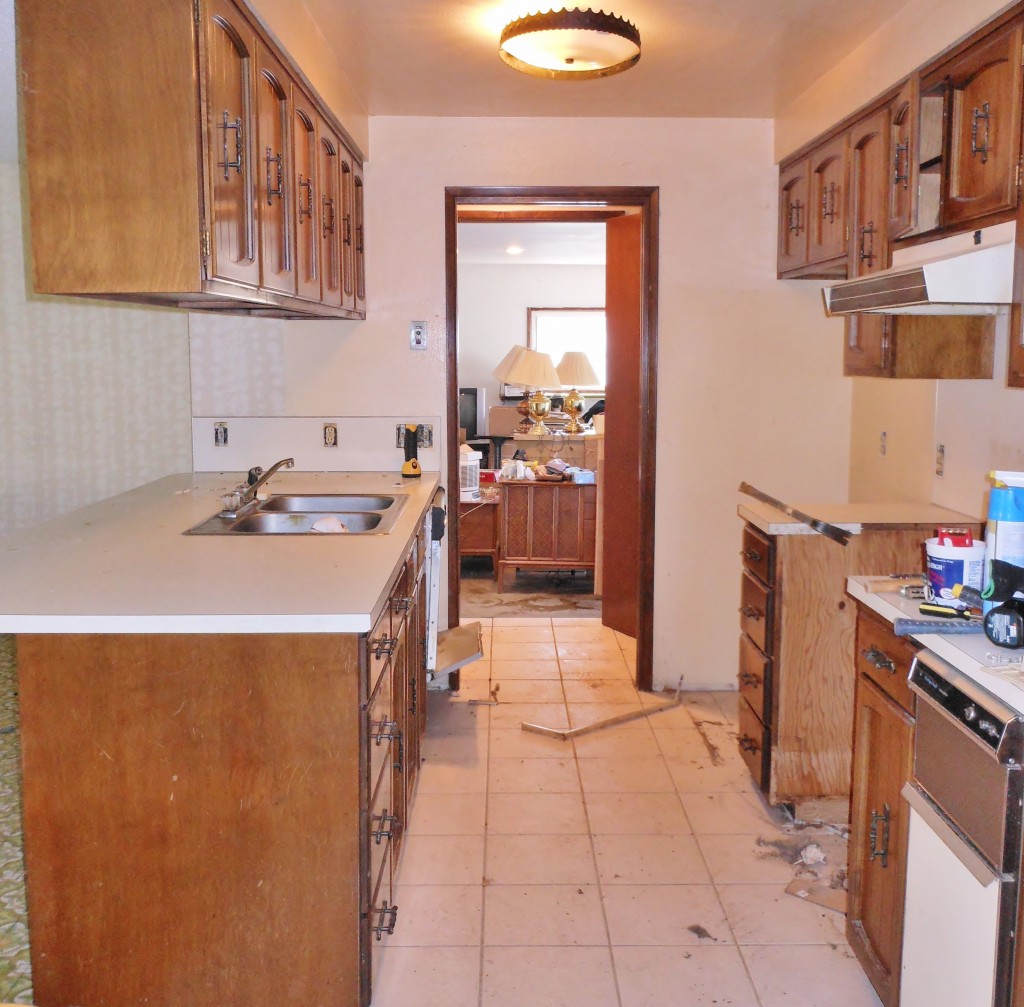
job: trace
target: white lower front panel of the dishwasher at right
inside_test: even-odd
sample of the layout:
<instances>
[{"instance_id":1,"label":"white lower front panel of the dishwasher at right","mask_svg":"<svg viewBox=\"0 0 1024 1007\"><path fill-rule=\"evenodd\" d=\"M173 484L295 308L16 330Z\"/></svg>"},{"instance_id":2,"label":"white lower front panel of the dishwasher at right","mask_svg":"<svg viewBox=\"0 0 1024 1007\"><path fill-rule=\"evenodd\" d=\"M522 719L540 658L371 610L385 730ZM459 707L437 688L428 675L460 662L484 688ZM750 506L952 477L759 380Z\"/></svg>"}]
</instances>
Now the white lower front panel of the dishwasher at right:
<instances>
[{"instance_id":1,"label":"white lower front panel of the dishwasher at right","mask_svg":"<svg viewBox=\"0 0 1024 1007\"><path fill-rule=\"evenodd\" d=\"M945 822L909 812L900 1007L992 1007L996 876Z\"/></svg>"}]
</instances>

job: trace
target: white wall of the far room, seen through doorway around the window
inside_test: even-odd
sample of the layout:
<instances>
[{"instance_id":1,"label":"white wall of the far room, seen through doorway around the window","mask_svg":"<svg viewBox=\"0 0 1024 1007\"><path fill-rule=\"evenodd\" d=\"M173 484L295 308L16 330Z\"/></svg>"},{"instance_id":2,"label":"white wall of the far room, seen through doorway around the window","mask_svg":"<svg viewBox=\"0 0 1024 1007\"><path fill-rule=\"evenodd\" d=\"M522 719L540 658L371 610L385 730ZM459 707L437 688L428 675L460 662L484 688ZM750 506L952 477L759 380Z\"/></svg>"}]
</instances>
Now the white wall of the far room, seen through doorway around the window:
<instances>
[{"instance_id":1,"label":"white wall of the far room, seen through doorway around the window","mask_svg":"<svg viewBox=\"0 0 1024 1007\"><path fill-rule=\"evenodd\" d=\"M459 383L486 388L488 405L495 368L526 345L528 307L604 307L604 266L460 264Z\"/></svg>"}]
</instances>

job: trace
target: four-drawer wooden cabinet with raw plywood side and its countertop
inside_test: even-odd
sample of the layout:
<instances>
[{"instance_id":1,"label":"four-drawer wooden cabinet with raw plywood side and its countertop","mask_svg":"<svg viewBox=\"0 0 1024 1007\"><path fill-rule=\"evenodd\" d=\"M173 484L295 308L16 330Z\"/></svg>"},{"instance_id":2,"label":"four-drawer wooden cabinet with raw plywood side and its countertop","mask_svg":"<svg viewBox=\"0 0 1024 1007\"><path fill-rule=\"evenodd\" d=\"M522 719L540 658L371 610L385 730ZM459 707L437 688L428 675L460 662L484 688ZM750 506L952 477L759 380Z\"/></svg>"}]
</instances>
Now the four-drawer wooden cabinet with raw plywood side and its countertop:
<instances>
[{"instance_id":1,"label":"four-drawer wooden cabinet with raw plywood side and its countertop","mask_svg":"<svg viewBox=\"0 0 1024 1007\"><path fill-rule=\"evenodd\" d=\"M737 741L771 804L814 816L825 806L827 813L845 817L856 680L856 613L846 578L922 570L922 543L936 522L971 522L929 507L802 509L860 531L844 547L810 529L795 533L795 522L779 511L740 507L746 523L740 546Z\"/></svg>"}]
</instances>

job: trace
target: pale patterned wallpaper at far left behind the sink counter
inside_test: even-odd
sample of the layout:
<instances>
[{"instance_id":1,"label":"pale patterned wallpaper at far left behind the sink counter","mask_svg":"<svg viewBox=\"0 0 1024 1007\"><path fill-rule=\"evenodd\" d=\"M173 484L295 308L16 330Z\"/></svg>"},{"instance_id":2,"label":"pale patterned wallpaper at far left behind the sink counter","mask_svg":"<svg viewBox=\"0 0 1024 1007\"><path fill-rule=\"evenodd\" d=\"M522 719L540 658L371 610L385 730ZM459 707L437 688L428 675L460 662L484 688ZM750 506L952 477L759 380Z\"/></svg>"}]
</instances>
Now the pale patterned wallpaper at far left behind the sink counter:
<instances>
[{"instance_id":1,"label":"pale patterned wallpaper at far left behind the sink counter","mask_svg":"<svg viewBox=\"0 0 1024 1007\"><path fill-rule=\"evenodd\" d=\"M0 536L191 470L188 314L26 293L0 162Z\"/></svg>"}]
</instances>

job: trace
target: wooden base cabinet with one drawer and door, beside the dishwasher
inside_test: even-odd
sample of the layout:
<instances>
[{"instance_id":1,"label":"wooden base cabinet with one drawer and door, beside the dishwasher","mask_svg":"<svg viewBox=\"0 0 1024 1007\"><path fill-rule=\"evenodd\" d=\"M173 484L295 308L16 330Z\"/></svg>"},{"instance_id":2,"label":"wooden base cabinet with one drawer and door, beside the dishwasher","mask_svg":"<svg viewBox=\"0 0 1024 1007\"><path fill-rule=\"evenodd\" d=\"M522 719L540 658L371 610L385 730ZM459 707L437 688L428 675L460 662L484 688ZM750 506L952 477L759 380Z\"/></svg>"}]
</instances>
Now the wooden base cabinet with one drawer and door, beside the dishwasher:
<instances>
[{"instance_id":1,"label":"wooden base cabinet with one drawer and door, beside the dishwasher","mask_svg":"<svg viewBox=\"0 0 1024 1007\"><path fill-rule=\"evenodd\" d=\"M857 615L847 938L885 1007L899 1003L916 646L869 610Z\"/></svg>"}]
</instances>

